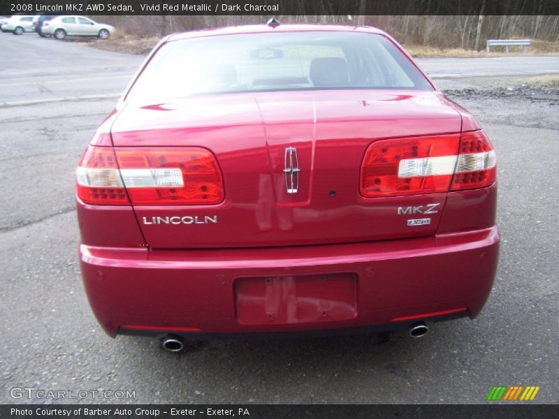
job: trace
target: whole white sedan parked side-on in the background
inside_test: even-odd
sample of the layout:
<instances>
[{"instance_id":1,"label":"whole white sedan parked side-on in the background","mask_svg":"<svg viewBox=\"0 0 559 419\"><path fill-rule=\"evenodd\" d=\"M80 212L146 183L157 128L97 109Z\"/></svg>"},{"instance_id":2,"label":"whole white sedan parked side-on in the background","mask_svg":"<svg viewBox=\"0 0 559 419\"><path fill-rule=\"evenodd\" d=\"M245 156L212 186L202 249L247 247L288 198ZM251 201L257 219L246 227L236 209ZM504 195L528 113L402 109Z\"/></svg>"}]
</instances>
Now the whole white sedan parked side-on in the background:
<instances>
[{"instance_id":1,"label":"whole white sedan parked side-on in the background","mask_svg":"<svg viewBox=\"0 0 559 419\"><path fill-rule=\"evenodd\" d=\"M57 39L64 39L66 36L97 36L108 39L115 33L115 27L82 16L59 16L44 22L41 31Z\"/></svg>"}]
</instances>

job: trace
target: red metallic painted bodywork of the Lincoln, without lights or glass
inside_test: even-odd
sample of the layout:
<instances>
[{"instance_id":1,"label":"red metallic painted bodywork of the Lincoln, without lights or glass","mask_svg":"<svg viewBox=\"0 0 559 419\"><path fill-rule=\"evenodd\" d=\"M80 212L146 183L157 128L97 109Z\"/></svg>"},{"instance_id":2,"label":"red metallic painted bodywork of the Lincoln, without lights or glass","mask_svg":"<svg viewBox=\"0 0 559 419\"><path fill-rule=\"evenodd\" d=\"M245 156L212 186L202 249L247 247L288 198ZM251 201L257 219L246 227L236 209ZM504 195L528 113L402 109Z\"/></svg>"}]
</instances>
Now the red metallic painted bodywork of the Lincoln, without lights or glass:
<instances>
[{"instance_id":1,"label":"red metallic painted bodywork of the Lincoln, without lights or glass","mask_svg":"<svg viewBox=\"0 0 559 419\"><path fill-rule=\"evenodd\" d=\"M159 46L272 30L363 31L393 41L372 28L281 25L189 32ZM78 200L82 277L108 335L340 330L459 309L473 318L484 306L498 263L496 185L391 198L358 192L359 168L374 140L479 129L436 88L226 94L144 108L125 97L92 143L205 147L222 169L225 200L136 207ZM282 173L291 145L303 170L296 196L284 192ZM409 228L408 217L397 215L398 207L428 203L440 204L429 226ZM219 222L142 225L144 216L171 215L217 215ZM345 279L340 292L331 292L320 277ZM263 290L266 279L276 286ZM298 297L306 311L290 316ZM279 315L270 321L274 304ZM317 318L325 304L344 308Z\"/></svg>"}]
</instances>

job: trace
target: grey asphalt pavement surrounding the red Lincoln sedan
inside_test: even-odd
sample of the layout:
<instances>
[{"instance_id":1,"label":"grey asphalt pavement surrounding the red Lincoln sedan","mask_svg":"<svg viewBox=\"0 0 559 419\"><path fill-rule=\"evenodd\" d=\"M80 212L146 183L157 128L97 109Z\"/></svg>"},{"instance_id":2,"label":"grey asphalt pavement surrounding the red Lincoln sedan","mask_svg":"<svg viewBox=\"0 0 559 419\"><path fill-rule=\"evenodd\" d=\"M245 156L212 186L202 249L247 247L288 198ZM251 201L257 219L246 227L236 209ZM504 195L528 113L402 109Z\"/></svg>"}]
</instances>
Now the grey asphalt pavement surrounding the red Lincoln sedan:
<instances>
[{"instance_id":1,"label":"grey asphalt pavement surrounding the red Lincoln sedan","mask_svg":"<svg viewBox=\"0 0 559 419\"><path fill-rule=\"evenodd\" d=\"M421 339L210 341L180 354L107 337L80 279L74 169L142 59L0 34L0 403L80 401L14 388L85 390L87 403L484 403L493 385L539 385L535 402L559 402L559 105L475 94L480 75L558 72L558 57L420 60L474 86L456 100L498 153L500 266L479 318Z\"/></svg>"}]
</instances>

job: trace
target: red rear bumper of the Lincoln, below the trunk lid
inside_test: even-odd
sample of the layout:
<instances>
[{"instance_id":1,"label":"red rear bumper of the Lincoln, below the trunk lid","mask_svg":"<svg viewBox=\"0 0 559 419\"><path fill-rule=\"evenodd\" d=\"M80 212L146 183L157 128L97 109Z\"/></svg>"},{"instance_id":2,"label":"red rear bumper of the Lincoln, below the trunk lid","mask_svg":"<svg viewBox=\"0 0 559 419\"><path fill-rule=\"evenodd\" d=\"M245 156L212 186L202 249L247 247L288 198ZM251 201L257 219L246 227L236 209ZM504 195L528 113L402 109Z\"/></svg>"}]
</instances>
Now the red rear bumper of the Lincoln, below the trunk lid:
<instances>
[{"instance_id":1,"label":"red rear bumper of the Lincoln, below the trunk lid","mask_svg":"<svg viewBox=\"0 0 559 419\"><path fill-rule=\"evenodd\" d=\"M320 335L392 330L431 319L473 318L491 292L498 247L499 233L494 226L411 240L285 248L148 251L82 245L80 260L89 302L112 337L165 332L199 337ZM324 307L331 309L331 316L317 314L315 321L301 322L288 313L259 320L259 311L266 316L278 304L303 304L296 285L285 284L342 273L355 281L351 288L355 295L349 299L336 302L333 294L333 300L321 297L312 301L308 295L312 295L314 283L306 285L306 318L313 309L324 314ZM249 295L256 316L250 324L246 316L240 317L238 297L240 281L247 278L277 278L282 284L266 288L261 299ZM317 288L317 295L324 295L324 290ZM349 300L354 316L338 320L335 304L347 305Z\"/></svg>"}]
</instances>

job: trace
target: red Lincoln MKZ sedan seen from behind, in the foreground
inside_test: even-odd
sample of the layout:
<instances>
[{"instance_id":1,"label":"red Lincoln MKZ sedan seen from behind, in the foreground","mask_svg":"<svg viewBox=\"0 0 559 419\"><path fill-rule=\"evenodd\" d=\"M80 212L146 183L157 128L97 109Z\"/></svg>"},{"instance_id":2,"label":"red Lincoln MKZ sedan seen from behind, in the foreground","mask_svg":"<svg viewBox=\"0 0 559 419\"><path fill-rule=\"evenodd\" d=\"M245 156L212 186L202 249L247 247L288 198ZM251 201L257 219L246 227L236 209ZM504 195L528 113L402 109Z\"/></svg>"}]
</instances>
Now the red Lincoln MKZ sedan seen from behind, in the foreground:
<instances>
[{"instance_id":1,"label":"red Lincoln MKZ sedan seen from behind, in the foreground","mask_svg":"<svg viewBox=\"0 0 559 419\"><path fill-rule=\"evenodd\" d=\"M88 145L104 330L178 351L477 316L500 241L486 133L383 31L273 27L168 36Z\"/></svg>"}]
</instances>

